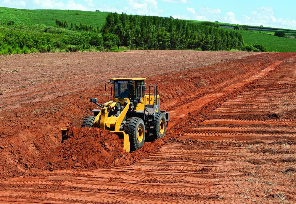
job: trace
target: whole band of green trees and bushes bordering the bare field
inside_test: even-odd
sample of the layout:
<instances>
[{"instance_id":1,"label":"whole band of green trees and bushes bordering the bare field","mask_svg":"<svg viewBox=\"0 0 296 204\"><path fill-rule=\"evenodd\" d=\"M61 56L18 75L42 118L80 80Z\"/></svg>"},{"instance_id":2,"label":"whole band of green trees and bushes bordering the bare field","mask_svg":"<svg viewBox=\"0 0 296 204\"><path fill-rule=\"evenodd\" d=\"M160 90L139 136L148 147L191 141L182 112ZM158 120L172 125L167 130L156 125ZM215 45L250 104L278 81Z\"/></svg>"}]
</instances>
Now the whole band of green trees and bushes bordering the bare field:
<instances>
[{"instance_id":1,"label":"whole band of green trees and bushes bordering the bare field","mask_svg":"<svg viewBox=\"0 0 296 204\"><path fill-rule=\"evenodd\" d=\"M28 30L7 23L0 30L0 55L28 52L75 52L91 50L244 50L266 51L261 45L246 45L242 35L214 23L192 23L173 17L109 13L101 29L55 20L56 27ZM9 24L9 25L8 25ZM38 27L39 26L39 27ZM16 29L18 28L18 29Z\"/></svg>"}]
</instances>

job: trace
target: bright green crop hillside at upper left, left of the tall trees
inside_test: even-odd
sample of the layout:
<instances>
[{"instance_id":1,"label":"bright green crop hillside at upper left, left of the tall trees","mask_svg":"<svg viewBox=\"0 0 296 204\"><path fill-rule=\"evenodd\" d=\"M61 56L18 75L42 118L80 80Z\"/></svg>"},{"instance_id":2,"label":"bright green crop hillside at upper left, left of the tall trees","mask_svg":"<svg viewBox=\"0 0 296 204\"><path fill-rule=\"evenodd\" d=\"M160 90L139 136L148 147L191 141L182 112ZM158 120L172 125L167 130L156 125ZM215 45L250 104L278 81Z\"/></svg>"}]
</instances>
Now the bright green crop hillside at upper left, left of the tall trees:
<instances>
[{"instance_id":1,"label":"bright green crop hillside at upper left, left of the tall trees","mask_svg":"<svg viewBox=\"0 0 296 204\"><path fill-rule=\"evenodd\" d=\"M74 10L28 10L28 9L12 9L0 7L0 24L6 24L9 20L15 21L15 24L25 23L27 25L47 25L55 26L55 20L58 18L62 21L80 22L92 25L94 28L99 26L102 28L105 23L108 12L92 12L92 11L74 11Z\"/></svg>"}]
</instances>

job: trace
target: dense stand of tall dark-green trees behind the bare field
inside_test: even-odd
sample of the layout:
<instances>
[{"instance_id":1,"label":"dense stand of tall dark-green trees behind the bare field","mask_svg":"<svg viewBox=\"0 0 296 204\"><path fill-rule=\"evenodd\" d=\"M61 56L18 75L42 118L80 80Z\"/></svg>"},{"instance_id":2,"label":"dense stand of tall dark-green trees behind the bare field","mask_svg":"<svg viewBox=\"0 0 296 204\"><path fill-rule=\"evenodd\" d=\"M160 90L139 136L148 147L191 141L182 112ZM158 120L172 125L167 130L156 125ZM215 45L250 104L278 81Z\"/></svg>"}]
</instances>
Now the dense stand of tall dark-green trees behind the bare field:
<instances>
[{"instance_id":1,"label":"dense stand of tall dark-green trees behind the bare field","mask_svg":"<svg viewBox=\"0 0 296 204\"><path fill-rule=\"evenodd\" d=\"M217 51L241 49L244 44L242 35L236 31L173 17L110 13L101 32L117 35L118 44L131 49Z\"/></svg>"}]
</instances>

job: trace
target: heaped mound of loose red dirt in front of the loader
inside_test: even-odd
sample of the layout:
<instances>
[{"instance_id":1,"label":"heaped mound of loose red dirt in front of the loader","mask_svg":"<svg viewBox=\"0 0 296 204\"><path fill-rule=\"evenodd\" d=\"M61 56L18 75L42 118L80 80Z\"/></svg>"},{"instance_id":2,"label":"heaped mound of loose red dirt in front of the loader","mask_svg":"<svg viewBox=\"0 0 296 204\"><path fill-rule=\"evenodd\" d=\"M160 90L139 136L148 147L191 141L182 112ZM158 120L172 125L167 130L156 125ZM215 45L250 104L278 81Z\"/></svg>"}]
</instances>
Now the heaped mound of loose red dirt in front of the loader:
<instances>
[{"instance_id":1,"label":"heaped mound of loose red dirt in front of the loader","mask_svg":"<svg viewBox=\"0 0 296 204\"><path fill-rule=\"evenodd\" d=\"M63 143L46 153L39 168L110 168L128 165L123 139L99 128L70 128Z\"/></svg>"}]
</instances>

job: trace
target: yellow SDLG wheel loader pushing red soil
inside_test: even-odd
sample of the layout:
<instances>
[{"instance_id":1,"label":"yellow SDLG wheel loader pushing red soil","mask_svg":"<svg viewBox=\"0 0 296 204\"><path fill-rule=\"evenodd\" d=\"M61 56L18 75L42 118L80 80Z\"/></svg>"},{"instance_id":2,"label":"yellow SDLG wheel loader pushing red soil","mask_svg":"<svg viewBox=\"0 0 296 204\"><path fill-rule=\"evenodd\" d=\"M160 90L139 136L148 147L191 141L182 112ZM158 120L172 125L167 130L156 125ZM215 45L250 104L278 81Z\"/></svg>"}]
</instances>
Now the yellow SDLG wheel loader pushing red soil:
<instances>
[{"instance_id":1,"label":"yellow SDLG wheel loader pushing red soil","mask_svg":"<svg viewBox=\"0 0 296 204\"><path fill-rule=\"evenodd\" d=\"M92 110L94 115L85 117L81 127L99 127L123 135L127 152L141 148L145 136L165 136L170 113L160 110L157 86L149 86L149 93L145 94L144 81L145 78L110 79L105 83L105 90L111 86L110 101L101 105L97 98L90 98L100 109Z\"/></svg>"}]
</instances>

